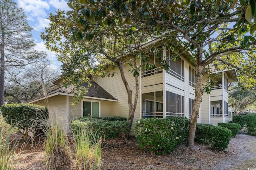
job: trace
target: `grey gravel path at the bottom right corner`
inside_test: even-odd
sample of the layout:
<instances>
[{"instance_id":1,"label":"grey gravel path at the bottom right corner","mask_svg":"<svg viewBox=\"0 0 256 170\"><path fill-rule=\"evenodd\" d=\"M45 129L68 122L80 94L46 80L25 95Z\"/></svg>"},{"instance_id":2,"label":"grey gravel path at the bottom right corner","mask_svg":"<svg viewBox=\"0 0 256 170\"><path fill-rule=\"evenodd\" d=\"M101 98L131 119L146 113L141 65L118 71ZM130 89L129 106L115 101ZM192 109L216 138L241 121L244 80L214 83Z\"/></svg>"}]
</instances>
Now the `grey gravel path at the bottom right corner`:
<instances>
[{"instance_id":1,"label":"grey gravel path at the bottom right corner","mask_svg":"<svg viewBox=\"0 0 256 170\"><path fill-rule=\"evenodd\" d=\"M213 170L256 169L256 136L249 136L243 130L232 138L227 152L230 157L213 167Z\"/></svg>"}]
</instances>

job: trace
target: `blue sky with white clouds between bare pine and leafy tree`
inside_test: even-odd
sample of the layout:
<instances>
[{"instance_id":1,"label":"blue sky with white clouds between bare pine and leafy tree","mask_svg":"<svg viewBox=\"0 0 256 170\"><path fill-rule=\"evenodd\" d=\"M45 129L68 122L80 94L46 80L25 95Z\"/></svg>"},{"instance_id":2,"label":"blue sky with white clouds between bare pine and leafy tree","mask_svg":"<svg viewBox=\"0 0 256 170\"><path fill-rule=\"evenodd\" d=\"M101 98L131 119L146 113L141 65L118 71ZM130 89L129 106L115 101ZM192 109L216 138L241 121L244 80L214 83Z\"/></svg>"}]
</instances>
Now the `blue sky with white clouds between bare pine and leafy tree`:
<instances>
[{"instance_id":1,"label":"blue sky with white clouds between bare pine and leafy tree","mask_svg":"<svg viewBox=\"0 0 256 170\"><path fill-rule=\"evenodd\" d=\"M18 7L23 9L29 25L34 28L32 35L36 43L35 49L45 51L48 54L48 59L53 61L55 66L59 66L60 63L58 63L56 55L45 49L44 42L40 38L40 33L48 26L49 20L47 18L50 13L54 14L54 10L56 9L65 10L65 12L70 9L66 0L14 0L14 2L18 4Z\"/></svg>"}]
</instances>

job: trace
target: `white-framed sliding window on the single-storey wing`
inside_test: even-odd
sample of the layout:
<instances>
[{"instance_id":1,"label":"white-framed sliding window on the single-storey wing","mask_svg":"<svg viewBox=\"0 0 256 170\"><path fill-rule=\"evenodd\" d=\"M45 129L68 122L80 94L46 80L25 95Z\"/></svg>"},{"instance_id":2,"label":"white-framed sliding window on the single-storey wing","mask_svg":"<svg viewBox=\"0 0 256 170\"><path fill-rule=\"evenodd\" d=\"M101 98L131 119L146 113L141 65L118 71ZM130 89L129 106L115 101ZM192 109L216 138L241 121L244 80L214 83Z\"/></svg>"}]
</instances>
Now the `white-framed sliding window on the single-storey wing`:
<instances>
[{"instance_id":1,"label":"white-framed sliding window on the single-storey wing","mask_svg":"<svg viewBox=\"0 0 256 170\"><path fill-rule=\"evenodd\" d=\"M99 102L83 102L83 117L84 116L92 116L99 117L100 113L100 103Z\"/></svg>"}]
</instances>

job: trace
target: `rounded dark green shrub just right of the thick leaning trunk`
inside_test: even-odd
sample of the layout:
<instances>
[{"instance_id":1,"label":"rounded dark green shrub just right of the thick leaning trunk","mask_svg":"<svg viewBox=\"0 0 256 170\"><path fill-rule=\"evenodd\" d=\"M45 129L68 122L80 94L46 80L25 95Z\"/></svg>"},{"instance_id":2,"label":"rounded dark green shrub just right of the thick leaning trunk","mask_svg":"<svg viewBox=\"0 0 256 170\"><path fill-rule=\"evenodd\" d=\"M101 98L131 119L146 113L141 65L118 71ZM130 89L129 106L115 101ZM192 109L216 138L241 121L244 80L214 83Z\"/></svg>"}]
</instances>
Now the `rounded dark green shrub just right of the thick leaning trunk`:
<instances>
[{"instance_id":1,"label":"rounded dark green shrub just right of the thick leaning trunk","mask_svg":"<svg viewBox=\"0 0 256 170\"><path fill-rule=\"evenodd\" d=\"M231 137L232 131L226 127L200 123L196 125L195 140L199 143L210 145L214 150L226 149Z\"/></svg>"}]
</instances>

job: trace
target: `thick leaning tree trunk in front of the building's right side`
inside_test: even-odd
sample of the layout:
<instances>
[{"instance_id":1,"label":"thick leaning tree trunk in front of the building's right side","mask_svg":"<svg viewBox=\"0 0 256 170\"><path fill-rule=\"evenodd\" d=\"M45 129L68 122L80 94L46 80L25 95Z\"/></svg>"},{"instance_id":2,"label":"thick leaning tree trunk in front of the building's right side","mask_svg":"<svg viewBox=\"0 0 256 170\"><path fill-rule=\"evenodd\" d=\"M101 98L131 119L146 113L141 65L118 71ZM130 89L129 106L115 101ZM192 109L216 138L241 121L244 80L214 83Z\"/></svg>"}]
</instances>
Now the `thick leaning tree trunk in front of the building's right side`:
<instances>
[{"instance_id":1,"label":"thick leaning tree trunk in front of the building's right side","mask_svg":"<svg viewBox=\"0 0 256 170\"><path fill-rule=\"evenodd\" d=\"M200 61L197 61L195 99L194 99L194 105L192 109L192 115L190 118L188 141L186 144L186 146L189 148L193 148L195 145L196 123L197 123L197 118L199 114L200 104L202 101L202 95L204 94L203 88L202 88L203 73L204 73L204 66Z\"/></svg>"}]
</instances>

